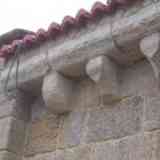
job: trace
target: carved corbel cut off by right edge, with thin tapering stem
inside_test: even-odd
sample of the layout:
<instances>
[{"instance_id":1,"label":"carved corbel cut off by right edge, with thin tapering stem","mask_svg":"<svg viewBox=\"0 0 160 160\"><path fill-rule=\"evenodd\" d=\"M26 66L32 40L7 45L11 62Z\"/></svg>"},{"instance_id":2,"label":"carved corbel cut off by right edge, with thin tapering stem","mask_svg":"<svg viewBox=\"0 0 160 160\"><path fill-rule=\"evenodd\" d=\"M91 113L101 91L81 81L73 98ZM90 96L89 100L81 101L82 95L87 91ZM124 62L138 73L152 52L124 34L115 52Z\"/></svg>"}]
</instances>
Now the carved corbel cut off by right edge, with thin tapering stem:
<instances>
[{"instance_id":1,"label":"carved corbel cut off by right edge, with thin tapering stem","mask_svg":"<svg viewBox=\"0 0 160 160\"><path fill-rule=\"evenodd\" d=\"M160 33L145 37L140 42L140 49L152 65L155 77L160 80Z\"/></svg>"}]
</instances>

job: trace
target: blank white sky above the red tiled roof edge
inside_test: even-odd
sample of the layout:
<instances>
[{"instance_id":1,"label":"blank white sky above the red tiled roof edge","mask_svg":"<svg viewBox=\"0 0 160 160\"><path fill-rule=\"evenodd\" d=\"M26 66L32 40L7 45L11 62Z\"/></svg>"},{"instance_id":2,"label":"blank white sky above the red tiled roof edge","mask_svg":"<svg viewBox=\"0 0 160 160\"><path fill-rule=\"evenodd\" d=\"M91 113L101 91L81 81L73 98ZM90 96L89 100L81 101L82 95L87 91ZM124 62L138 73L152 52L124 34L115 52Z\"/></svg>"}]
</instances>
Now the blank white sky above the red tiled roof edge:
<instances>
[{"instance_id":1,"label":"blank white sky above the red tiled roof edge","mask_svg":"<svg viewBox=\"0 0 160 160\"><path fill-rule=\"evenodd\" d=\"M96 0L1 0L0 34L14 28L36 31L47 29L65 15L75 16L80 8L90 10ZM106 0L99 0L106 3Z\"/></svg>"}]
</instances>

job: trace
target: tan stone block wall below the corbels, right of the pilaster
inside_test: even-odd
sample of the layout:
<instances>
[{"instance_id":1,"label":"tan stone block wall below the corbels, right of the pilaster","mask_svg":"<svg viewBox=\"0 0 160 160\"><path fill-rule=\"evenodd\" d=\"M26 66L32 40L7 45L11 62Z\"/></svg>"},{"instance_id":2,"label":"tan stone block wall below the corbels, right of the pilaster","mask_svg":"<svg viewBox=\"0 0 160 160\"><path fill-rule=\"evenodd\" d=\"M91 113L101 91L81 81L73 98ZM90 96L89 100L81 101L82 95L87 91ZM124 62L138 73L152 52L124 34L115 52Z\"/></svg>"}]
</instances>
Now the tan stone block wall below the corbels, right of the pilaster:
<instances>
[{"instance_id":1,"label":"tan stone block wall below the corbels, right of the pilaster","mask_svg":"<svg viewBox=\"0 0 160 160\"><path fill-rule=\"evenodd\" d=\"M35 99L24 160L160 159L160 92L148 62L120 69L121 98L110 105L94 82L77 83L68 114L54 115Z\"/></svg>"}]
</instances>

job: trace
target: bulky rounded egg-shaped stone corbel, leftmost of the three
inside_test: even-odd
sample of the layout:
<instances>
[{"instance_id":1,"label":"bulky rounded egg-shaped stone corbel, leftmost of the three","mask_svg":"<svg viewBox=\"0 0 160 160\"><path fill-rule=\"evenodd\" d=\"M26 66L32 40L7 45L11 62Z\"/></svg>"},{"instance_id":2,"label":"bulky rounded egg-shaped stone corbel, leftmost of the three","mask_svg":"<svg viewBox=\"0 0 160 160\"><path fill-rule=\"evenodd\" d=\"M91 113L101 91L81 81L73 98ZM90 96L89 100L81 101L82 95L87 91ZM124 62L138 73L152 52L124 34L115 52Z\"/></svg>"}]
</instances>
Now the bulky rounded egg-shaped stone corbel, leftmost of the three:
<instances>
[{"instance_id":1,"label":"bulky rounded egg-shaped stone corbel, leftmost of the three","mask_svg":"<svg viewBox=\"0 0 160 160\"><path fill-rule=\"evenodd\" d=\"M63 114L72 110L74 82L56 71L45 76L42 95L46 106L56 114Z\"/></svg>"}]
</instances>

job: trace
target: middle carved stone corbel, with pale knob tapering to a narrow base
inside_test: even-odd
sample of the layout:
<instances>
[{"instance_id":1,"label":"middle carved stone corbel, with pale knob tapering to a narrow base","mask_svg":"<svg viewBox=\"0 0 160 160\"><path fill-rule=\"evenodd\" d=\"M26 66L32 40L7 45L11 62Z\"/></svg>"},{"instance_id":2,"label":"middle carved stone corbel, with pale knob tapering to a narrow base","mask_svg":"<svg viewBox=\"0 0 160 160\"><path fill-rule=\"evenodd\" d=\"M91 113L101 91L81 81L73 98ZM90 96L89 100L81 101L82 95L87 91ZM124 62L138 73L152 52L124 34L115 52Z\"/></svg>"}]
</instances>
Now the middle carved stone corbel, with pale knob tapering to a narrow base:
<instances>
[{"instance_id":1,"label":"middle carved stone corbel, with pale knob tapering to a narrow base","mask_svg":"<svg viewBox=\"0 0 160 160\"><path fill-rule=\"evenodd\" d=\"M100 90L105 104L118 100L117 65L106 56L91 59L86 65L86 73Z\"/></svg>"}]
</instances>

